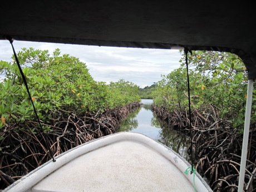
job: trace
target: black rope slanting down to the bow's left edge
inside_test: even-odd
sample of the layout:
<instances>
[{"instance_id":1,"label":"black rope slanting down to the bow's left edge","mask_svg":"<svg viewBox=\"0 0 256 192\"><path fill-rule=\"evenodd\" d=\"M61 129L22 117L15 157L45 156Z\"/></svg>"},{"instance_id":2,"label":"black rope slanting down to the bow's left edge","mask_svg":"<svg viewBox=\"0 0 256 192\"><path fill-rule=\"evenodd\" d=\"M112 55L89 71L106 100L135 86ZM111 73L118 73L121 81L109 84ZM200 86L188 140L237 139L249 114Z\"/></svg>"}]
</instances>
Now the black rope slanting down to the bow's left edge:
<instances>
[{"instance_id":1,"label":"black rope slanting down to the bow's left edge","mask_svg":"<svg viewBox=\"0 0 256 192\"><path fill-rule=\"evenodd\" d=\"M39 119L39 117L38 117L38 115L37 115L37 110L36 110L36 107L35 107L35 105L34 105L34 103L33 103L31 94L30 94L30 92L29 92L29 88L28 88L28 85L27 85L26 77L24 76L24 73L23 73L23 71L22 71L21 65L19 64L18 57L17 57L16 52L15 52L15 50L14 50L14 47L13 47L13 44L12 44L12 43L13 43L12 37L6 37L6 39L7 39L7 40L11 43L11 45L12 45L13 54L14 54L14 57L15 57L15 59L16 59L17 65L18 65L19 72L21 73L21 76L22 76L24 85L25 85L25 87L26 87L26 89L27 89L27 93L28 93L29 99L30 99L30 101L31 101L31 103L32 103L32 106L33 106L33 110L34 110L34 112L35 112L35 114L36 114L37 121L38 121L38 123L39 123L39 125L40 125L40 128L41 128L41 130L42 130L42 137L43 137L43 139L46 141L46 147L47 147L47 150L50 152L50 156L51 156L51 158L52 158L52 161L55 162L56 160L55 160L54 157L53 157L53 152L52 152L52 150L51 150L49 141L48 141L47 139L45 139L44 132L43 132L43 127L42 127L41 121L40 121L40 119Z\"/></svg>"}]
</instances>

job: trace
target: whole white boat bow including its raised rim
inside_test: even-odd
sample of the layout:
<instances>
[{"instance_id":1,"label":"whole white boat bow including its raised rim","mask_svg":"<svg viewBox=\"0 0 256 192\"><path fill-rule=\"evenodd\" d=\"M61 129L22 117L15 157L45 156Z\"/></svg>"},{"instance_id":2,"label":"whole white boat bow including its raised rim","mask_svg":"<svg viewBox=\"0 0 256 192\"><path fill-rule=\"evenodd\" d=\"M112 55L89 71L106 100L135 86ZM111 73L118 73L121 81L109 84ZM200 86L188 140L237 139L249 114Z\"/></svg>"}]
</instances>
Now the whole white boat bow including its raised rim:
<instances>
[{"instance_id":1,"label":"whole white boat bow including its raised rim","mask_svg":"<svg viewBox=\"0 0 256 192\"><path fill-rule=\"evenodd\" d=\"M194 191L193 175L184 174L190 165L168 147L141 134L122 132L102 137L56 160L14 187L31 185L18 189L33 192ZM195 184L199 192L211 191L198 174Z\"/></svg>"}]
</instances>

